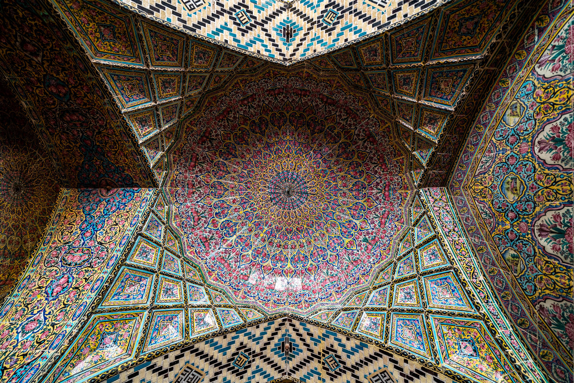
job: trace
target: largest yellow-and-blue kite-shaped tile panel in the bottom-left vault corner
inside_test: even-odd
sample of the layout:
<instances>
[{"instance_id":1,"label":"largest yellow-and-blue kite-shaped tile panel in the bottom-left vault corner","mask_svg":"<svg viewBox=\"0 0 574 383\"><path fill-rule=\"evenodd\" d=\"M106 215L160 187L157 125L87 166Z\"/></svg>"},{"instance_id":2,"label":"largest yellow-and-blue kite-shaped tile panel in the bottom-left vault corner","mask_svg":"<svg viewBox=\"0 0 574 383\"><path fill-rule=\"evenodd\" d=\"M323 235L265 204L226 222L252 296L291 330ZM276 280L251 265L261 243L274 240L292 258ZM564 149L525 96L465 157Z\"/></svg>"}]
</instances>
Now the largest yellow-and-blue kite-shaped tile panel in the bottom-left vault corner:
<instances>
[{"instance_id":1,"label":"largest yellow-and-blue kite-shaped tile panel in the bottom-left vault corner","mask_svg":"<svg viewBox=\"0 0 574 383\"><path fill-rule=\"evenodd\" d=\"M94 378L133 360L145 315L145 311L92 315L59 359L55 381L69 381L80 374L84 378Z\"/></svg>"}]
</instances>

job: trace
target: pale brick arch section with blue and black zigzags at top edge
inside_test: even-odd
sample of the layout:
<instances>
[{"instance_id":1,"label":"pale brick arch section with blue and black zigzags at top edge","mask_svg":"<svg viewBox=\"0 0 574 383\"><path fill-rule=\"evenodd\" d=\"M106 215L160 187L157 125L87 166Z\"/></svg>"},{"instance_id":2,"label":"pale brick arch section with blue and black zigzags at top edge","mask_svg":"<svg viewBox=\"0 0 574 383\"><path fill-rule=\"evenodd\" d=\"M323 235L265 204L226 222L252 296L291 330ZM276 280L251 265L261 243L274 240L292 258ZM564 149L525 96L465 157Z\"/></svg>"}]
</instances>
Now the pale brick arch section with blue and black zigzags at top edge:
<instances>
[{"instance_id":1,"label":"pale brick arch section with blue and black zigzags at top edge","mask_svg":"<svg viewBox=\"0 0 574 383\"><path fill-rule=\"evenodd\" d=\"M379 35L446 2L121 0L125 7L182 32L281 63Z\"/></svg>"}]
</instances>

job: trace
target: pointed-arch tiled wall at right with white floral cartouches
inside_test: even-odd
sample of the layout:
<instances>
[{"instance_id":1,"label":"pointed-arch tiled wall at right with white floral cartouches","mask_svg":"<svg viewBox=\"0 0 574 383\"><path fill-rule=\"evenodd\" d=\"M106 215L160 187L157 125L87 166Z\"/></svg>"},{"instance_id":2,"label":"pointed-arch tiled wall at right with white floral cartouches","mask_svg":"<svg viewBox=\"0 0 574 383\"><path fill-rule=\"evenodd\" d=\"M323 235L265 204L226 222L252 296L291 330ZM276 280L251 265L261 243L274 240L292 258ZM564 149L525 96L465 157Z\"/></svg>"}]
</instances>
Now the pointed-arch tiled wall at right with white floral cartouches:
<instances>
[{"instance_id":1,"label":"pointed-arch tiled wall at right with white floral cartouches","mask_svg":"<svg viewBox=\"0 0 574 383\"><path fill-rule=\"evenodd\" d=\"M556 381L572 380L572 13L550 2L474 121L449 186L495 292Z\"/></svg>"}]
</instances>

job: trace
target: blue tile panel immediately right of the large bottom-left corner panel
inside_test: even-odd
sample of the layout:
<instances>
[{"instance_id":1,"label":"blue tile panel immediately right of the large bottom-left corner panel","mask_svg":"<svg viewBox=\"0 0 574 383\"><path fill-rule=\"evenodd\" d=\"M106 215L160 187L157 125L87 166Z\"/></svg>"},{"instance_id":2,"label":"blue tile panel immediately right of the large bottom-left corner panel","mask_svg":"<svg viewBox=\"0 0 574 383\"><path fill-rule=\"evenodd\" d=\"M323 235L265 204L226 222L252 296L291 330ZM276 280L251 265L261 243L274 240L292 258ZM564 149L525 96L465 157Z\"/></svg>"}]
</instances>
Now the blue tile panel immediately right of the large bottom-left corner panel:
<instances>
[{"instance_id":1,"label":"blue tile panel immediately right of the large bottom-left corner panel","mask_svg":"<svg viewBox=\"0 0 574 383\"><path fill-rule=\"evenodd\" d=\"M184 310L154 310L148 327L142 354L158 350L184 340Z\"/></svg>"}]
</instances>

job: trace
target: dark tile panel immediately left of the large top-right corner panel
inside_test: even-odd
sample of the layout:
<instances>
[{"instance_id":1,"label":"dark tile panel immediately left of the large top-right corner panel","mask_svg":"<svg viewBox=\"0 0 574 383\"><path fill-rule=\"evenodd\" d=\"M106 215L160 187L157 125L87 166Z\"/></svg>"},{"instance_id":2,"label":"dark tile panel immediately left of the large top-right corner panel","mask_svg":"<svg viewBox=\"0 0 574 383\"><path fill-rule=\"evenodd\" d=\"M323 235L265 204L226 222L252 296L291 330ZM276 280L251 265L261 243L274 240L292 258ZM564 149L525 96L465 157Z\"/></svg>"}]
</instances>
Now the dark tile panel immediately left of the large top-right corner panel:
<instances>
[{"instance_id":1,"label":"dark tile panel immediately left of the large top-right corner panel","mask_svg":"<svg viewBox=\"0 0 574 383\"><path fill-rule=\"evenodd\" d=\"M422 62L430 20L426 17L389 35L392 65Z\"/></svg>"}]
</instances>

